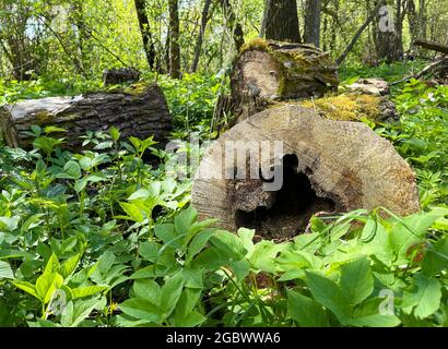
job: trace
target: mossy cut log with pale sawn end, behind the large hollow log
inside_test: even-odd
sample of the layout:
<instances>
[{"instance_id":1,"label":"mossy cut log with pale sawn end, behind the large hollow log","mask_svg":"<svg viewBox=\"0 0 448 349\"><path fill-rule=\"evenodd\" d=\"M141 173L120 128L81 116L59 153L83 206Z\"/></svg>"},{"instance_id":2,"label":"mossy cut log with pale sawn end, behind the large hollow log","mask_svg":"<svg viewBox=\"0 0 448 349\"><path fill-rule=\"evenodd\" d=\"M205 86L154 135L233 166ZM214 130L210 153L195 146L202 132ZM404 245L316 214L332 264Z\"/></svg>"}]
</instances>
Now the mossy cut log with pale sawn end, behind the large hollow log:
<instances>
[{"instance_id":1,"label":"mossy cut log with pale sawn end, behind the large hollow log","mask_svg":"<svg viewBox=\"0 0 448 349\"><path fill-rule=\"evenodd\" d=\"M338 84L329 53L304 44L255 39L241 48L234 63L233 115L239 122L272 101L320 97Z\"/></svg>"}]
</instances>

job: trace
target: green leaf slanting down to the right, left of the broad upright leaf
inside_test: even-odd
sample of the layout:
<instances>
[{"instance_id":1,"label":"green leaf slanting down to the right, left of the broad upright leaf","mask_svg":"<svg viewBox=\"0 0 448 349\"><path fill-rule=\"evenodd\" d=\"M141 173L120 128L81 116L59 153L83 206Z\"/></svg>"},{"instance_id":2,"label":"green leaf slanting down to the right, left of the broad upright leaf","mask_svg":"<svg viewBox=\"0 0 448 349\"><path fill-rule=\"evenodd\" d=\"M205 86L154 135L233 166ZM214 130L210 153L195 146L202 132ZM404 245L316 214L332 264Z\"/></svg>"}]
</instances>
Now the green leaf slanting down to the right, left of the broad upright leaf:
<instances>
[{"instance_id":1,"label":"green leaf slanting down to the right, left of the broad upright leaf","mask_svg":"<svg viewBox=\"0 0 448 349\"><path fill-rule=\"evenodd\" d=\"M306 284L314 299L337 315L342 324L345 324L349 318L349 306L338 285L321 275L305 273Z\"/></svg>"}]
</instances>

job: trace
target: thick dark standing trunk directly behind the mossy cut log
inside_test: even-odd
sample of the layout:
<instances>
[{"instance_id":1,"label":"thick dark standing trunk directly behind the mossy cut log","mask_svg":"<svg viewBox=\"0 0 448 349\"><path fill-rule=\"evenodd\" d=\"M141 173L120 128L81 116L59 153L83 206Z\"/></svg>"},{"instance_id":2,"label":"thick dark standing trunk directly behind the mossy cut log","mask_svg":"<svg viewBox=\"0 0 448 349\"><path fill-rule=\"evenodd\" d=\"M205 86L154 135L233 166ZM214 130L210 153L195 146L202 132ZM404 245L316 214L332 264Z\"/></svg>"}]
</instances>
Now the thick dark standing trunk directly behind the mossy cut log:
<instances>
[{"instance_id":1,"label":"thick dark standing trunk directly behind the mossy cut log","mask_svg":"<svg viewBox=\"0 0 448 349\"><path fill-rule=\"evenodd\" d=\"M296 0L268 1L266 38L300 43Z\"/></svg>"}]
</instances>

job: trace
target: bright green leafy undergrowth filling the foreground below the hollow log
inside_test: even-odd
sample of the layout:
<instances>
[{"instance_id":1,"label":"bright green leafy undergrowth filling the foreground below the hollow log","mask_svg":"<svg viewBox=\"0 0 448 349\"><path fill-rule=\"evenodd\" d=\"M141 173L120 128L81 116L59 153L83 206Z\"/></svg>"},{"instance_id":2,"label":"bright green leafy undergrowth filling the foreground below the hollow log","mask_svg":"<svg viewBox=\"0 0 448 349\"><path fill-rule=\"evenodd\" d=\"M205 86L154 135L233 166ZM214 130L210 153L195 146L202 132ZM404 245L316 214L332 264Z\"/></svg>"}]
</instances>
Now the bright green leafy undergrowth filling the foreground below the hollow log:
<instances>
[{"instance_id":1,"label":"bright green leafy undergrowth filling the foreground below the hollow log","mask_svg":"<svg viewBox=\"0 0 448 349\"><path fill-rule=\"evenodd\" d=\"M152 139L111 129L71 154L54 131L0 153L0 325L448 325L447 208L315 217L255 243L198 220Z\"/></svg>"}]
</instances>

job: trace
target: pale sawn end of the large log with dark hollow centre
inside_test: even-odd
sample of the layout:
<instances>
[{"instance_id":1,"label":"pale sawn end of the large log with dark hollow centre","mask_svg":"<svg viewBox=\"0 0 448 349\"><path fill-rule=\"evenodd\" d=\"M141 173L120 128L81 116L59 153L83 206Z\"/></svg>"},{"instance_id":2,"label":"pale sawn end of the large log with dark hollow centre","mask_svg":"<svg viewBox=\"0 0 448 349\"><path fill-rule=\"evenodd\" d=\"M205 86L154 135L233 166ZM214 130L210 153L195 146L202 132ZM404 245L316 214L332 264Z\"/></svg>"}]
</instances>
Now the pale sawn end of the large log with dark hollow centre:
<instances>
[{"instance_id":1,"label":"pale sawn end of the large log with dark hollow centre","mask_svg":"<svg viewBox=\"0 0 448 349\"><path fill-rule=\"evenodd\" d=\"M275 141L283 152L273 151ZM227 157L232 146L240 158ZM282 185L268 191L272 170L283 174ZM328 120L297 105L257 113L215 141L196 174L192 205L224 229L254 228L264 238L303 232L322 210L384 206L408 215L420 207L415 176L392 144L364 123Z\"/></svg>"}]
</instances>

